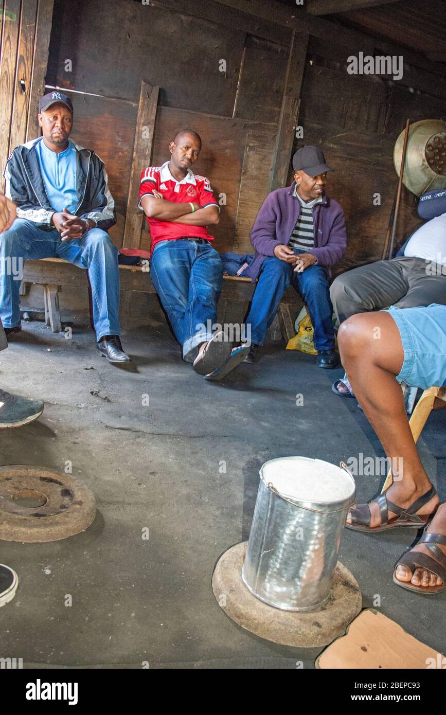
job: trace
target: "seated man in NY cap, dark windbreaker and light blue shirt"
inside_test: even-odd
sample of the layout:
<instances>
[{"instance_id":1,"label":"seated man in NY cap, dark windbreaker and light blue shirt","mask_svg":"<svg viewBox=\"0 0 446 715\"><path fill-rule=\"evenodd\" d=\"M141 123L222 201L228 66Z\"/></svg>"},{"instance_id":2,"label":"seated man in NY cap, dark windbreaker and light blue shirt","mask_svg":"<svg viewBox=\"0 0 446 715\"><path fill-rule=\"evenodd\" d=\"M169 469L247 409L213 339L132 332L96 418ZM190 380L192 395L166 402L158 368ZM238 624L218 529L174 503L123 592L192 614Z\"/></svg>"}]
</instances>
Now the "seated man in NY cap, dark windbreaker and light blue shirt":
<instances>
[{"instance_id":1,"label":"seated man in NY cap, dark windbreaker and light blue shirt","mask_svg":"<svg viewBox=\"0 0 446 715\"><path fill-rule=\"evenodd\" d=\"M17 219L0 235L0 317L6 337L21 330L20 280L7 270L29 258L63 258L89 272L97 349L128 363L119 340L117 249L107 234L116 223L104 162L69 140L71 99L59 91L39 101L42 137L16 147L4 177ZM14 263L15 262L15 263Z\"/></svg>"}]
</instances>

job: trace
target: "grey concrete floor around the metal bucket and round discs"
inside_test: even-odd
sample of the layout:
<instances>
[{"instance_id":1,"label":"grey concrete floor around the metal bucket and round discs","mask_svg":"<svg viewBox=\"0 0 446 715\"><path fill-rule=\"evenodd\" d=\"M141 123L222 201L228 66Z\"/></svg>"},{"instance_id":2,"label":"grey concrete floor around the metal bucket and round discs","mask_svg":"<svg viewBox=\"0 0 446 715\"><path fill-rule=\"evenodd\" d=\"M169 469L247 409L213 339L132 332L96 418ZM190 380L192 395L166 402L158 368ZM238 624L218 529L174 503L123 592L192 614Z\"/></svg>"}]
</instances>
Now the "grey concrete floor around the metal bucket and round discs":
<instances>
[{"instance_id":1,"label":"grey concrete floor around the metal bucket and round discs","mask_svg":"<svg viewBox=\"0 0 446 715\"><path fill-rule=\"evenodd\" d=\"M71 460L98 511L87 531L64 541L0 543L0 561L19 574L14 601L0 610L0 656L22 658L25 667L314 667L320 649L270 644L232 623L211 578L222 552L249 536L266 460L382 455L356 401L330 390L342 371L318 370L311 356L271 345L258 365L206 383L182 362L163 322L124 334L132 370L96 354L79 315L72 340L41 322L23 325L1 353L0 385L46 405L31 425L2 430L0 463L63 473ZM98 389L107 400L91 395ZM443 501L445 426L446 411L432 413L419 443ZM357 478L360 501L379 483ZM360 583L364 607L380 596L385 615L445 652L445 594L417 596L392 583L393 563L414 537L403 529L346 531L340 559Z\"/></svg>"}]
</instances>

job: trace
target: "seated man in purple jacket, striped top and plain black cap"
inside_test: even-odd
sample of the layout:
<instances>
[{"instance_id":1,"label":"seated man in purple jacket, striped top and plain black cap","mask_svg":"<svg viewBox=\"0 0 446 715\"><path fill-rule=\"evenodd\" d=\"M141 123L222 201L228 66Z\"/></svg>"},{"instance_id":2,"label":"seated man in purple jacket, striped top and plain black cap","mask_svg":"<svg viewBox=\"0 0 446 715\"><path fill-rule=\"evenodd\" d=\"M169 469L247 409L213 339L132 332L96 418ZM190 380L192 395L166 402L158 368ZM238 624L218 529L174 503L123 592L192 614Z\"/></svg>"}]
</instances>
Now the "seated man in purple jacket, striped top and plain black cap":
<instances>
[{"instance_id":1,"label":"seated man in purple jacket, striped top and plain black cap","mask_svg":"<svg viewBox=\"0 0 446 715\"><path fill-rule=\"evenodd\" d=\"M244 272L258 277L247 325L251 325L251 349L244 362L256 361L279 302L291 284L307 304L314 327L318 368L336 368L330 268L345 254L347 235L340 204L325 194L327 172L319 147L308 145L293 157L294 182L267 196L251 232L256 250Z\"/></svg>"}]
</instances>

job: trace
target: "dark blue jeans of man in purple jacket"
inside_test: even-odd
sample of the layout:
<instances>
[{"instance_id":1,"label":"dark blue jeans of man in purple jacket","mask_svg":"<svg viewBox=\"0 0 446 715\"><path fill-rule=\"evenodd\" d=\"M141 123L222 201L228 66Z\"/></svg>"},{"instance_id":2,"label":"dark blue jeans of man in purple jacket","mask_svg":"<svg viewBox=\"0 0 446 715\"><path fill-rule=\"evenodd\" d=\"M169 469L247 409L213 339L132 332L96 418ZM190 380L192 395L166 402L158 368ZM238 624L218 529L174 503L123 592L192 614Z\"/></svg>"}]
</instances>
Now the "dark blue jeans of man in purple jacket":
<instances>
[{"instance_id":1,"label":"dark blue jeans of man in purple jacket","mask_svg":"<svg viewBox=\"0 0 446 715\"><path fill-rule=\"evenodd\" d=\"M311 265L302 273L296 273L289 263L275 256L264 259L252 297L246 319L247 325L251 324L251 342L263 345L267 329L289 285L302 295L307 304L314 327L314 347L319 351L332 350L335 347L335 335L327 270L319 265Z\"/></svg>"}]
</instances>

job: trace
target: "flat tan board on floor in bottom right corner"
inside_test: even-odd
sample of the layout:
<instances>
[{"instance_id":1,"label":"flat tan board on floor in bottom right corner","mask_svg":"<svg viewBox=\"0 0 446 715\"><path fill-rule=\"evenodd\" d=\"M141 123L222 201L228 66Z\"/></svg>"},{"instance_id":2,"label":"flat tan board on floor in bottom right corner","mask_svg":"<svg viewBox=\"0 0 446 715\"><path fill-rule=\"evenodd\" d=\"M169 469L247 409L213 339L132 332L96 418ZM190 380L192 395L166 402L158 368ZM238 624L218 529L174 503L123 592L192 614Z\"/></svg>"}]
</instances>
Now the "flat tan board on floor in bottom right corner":
<instances>
[{"instance_id":1,"label":"flat tan board on floor in bottom right corner","mask_svg":"<svg viewBox=\"0 0 446 715\"><path fill-rule=\"evenodd\" d=\"M421 669L437 663L437 651L373 608L355 618L345 636L317 658L322 669ZM441 656L441 654L440 654ZM434 659L430 661L428 659ZM440 659L441 661L441 659Z\"/></svg>"}]
</instances>

